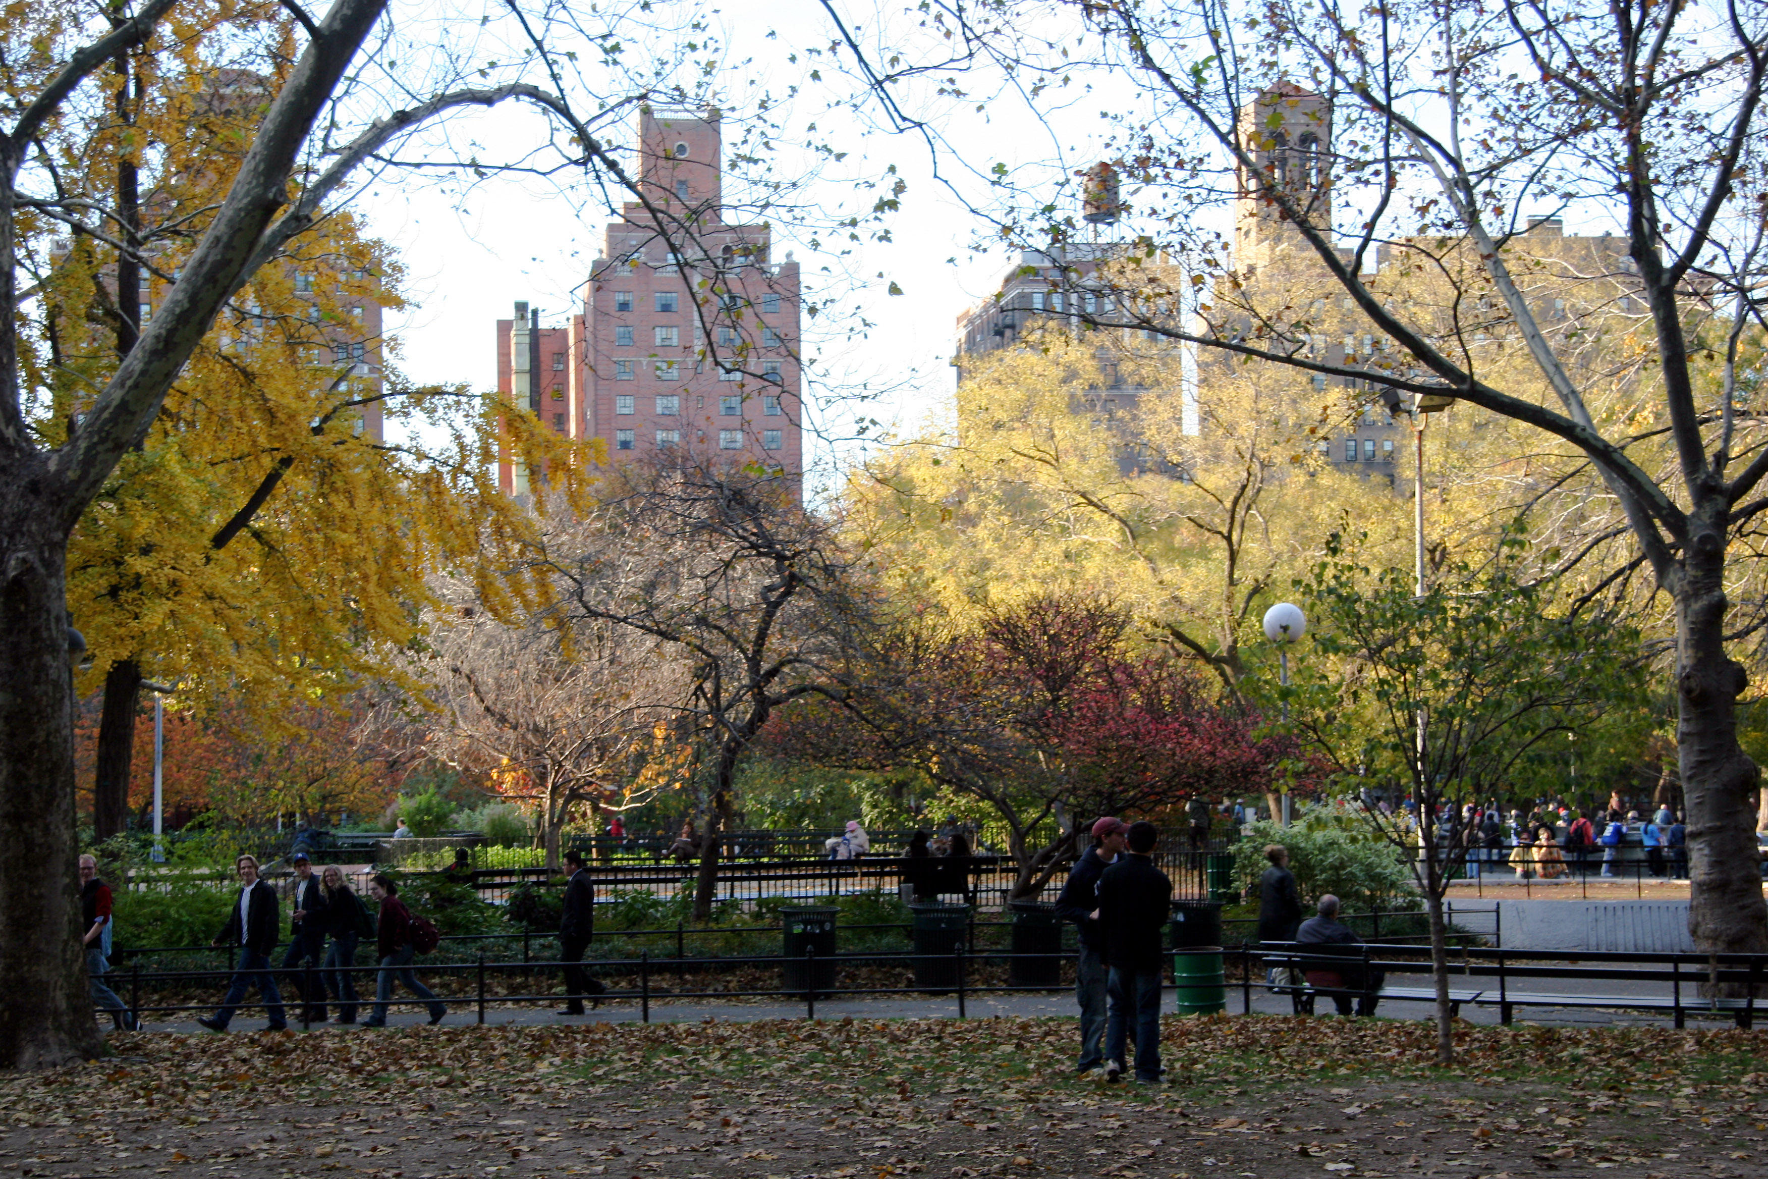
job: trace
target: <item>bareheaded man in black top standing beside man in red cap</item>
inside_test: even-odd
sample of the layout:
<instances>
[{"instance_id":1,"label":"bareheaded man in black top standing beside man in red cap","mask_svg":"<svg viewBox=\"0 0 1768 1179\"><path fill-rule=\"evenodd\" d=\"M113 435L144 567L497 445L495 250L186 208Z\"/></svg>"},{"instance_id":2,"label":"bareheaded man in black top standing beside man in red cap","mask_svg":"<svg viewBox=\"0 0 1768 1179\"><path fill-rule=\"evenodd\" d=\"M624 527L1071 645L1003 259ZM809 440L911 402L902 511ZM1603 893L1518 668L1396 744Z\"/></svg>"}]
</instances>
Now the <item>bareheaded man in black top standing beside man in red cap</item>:
<instances>
[{"instance_id":1,"label":"bareheaded man in black top standing beside man in red cap","mask_svg":"<svg viewBox=\"0 0 1768 1179\"><path fill-rule=\"evenodd\" d=\"M1128 856L1100 873L1100 921L1105 926L1105 1080L1124 1071L1124 1039L1135 1022L1135 1080L1160 1084L1160 930L1172 912L1172 880L1155 868L1160 833L1133 822L1124 836Z\"/></svg>"}]
</instances>

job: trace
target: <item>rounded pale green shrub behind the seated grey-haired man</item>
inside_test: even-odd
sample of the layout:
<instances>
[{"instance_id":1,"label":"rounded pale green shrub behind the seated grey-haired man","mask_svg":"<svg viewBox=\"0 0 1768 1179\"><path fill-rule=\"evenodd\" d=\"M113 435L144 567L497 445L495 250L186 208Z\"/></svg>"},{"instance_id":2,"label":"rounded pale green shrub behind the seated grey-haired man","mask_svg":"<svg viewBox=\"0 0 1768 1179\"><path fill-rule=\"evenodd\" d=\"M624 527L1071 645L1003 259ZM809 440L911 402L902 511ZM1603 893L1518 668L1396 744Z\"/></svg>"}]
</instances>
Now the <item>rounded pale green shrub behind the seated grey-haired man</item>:
<instances>
[{"instance_id":1,"label":"rounded pale green shrub behind the seated grey-haired man","mask_svg":"<svg viewBox=\"0 0 1768 1179\"><path fill-rule=\"evenodd\" d=\"M1289 870L1303 903L1333 893L1349 912L1414 909L1418 889L1400 850L1374 831L1347 802L1315 802L1287 827L1261 818L1234 845L1234 879L1257 900L1259 877L1269 868L1268 843L1289 848Z\"/></svg>"}]
</instances>

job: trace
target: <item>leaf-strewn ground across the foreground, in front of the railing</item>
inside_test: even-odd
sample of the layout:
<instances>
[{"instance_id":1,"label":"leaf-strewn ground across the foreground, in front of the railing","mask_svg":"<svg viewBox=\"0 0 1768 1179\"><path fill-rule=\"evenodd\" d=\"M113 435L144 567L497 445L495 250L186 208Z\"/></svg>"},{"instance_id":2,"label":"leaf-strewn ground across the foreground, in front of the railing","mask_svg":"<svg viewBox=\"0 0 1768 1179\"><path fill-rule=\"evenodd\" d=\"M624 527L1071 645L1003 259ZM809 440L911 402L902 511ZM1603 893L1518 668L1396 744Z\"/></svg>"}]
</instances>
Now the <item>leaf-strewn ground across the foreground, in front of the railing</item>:
<instances>
[{"instance_id":1,"label":"leaf-strewn ground across the foreground, in front of the railing","mask_svg":"<svg viewBox=\"0 0 1768 1179\"><path fill-rule=\"evenodd\" d=\"M1761 1175L1768 1034L1169 1020L1174 1084L1075 1078L1071 1020L117 1036L0 1078L0 1174Z\"/></svg>"}]
</instances>

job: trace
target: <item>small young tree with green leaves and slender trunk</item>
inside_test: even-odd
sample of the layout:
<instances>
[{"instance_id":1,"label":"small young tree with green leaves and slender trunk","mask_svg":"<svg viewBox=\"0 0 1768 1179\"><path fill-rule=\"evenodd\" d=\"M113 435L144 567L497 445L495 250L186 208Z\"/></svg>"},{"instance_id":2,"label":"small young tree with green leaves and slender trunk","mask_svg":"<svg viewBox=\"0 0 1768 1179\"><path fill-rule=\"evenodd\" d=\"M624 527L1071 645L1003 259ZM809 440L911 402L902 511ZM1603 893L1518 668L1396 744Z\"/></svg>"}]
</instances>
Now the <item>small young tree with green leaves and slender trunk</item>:
<instances>
[{"instance_id":1,"label":"small young tree with green leaves and slender trunk","mask_svg":"<svg viewBox=\"0 0 1768 1179\"><path fill-rule=\"evenodd\" d=\"M1312 654L1291 689L1294 725L1335 785L1407 863L1425 896L1437 999L1437 1059L1453 1059L1443 894L1471 831L1467 802L1496 797L1543 742L1639 707L1639 638L1568 610L1552 582L1517 576L1512 534L1480 567L1453 562L1418 592L1409 573L1356 564L1340 537L1301 587ZM1416 804L1386 813L1372 783ZM1430 848L1430 854L1423 854Z\"/></svg>"}]
</instances>

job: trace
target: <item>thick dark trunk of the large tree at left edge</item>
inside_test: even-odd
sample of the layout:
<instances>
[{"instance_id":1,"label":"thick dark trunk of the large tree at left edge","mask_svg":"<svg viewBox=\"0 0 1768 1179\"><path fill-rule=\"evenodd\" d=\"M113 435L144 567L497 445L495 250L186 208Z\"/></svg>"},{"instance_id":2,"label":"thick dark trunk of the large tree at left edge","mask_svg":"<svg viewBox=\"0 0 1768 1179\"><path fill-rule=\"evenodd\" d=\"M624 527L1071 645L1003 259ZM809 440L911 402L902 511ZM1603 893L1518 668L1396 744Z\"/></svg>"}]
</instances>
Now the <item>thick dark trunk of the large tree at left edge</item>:
<instances>
[{"instance_id":1,"label":"thick dark trunk of the large tree at left edge","mask_svg":"<svg viewBox=\"0 0 1768 1179\"><path fill-rule=\"evenodd\" d=\"M0 1068L101 1050L80 949L67 539L30 493L41 456L0 465ZM32 470L32 467L39 467Z\"/></svg>"}]
</instances>

